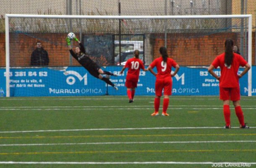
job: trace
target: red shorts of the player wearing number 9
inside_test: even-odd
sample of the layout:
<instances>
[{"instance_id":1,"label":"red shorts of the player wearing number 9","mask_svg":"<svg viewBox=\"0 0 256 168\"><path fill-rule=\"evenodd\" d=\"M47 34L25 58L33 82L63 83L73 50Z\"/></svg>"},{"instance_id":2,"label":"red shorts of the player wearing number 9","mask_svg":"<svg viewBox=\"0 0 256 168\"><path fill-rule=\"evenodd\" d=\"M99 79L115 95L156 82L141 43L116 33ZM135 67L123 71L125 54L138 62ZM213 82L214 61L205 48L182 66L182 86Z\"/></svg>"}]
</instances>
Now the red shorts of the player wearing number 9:
<instances>
[{"instance_id":1,"label":"red shorts of the player wearing number 9","mask_svg":"<svg viewBox=\"0 0 256 168\"><path fill-rule=\"evenodd\" d=\"M156 95L162 96L162 89L164 89L164 95L172 95L172 78L166 77L164 79L156 79Z\"/></svg>"}]
</instances>

